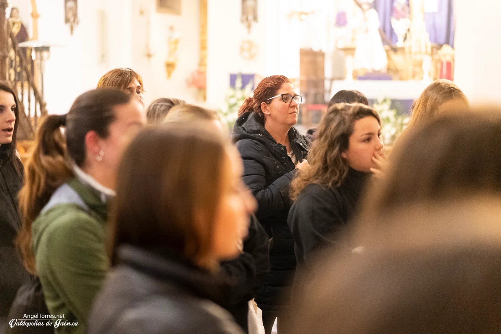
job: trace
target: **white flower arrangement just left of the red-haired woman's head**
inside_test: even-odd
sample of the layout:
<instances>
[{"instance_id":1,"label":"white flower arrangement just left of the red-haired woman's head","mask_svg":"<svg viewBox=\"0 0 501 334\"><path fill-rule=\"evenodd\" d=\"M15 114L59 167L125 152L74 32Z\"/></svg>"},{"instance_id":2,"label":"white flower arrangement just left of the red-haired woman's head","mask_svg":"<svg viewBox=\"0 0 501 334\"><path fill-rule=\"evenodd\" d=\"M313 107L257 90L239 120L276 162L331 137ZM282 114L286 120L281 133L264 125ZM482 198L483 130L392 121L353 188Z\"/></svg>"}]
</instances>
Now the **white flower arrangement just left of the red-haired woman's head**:
<instances>
[{"instance_id":1,"label":"white flower arrangement just left of the red-haired woman's head","mask_svg":"<svg viewBox=\"0 0 501 334\"><path fill-rule=\"evenodd\" d=\"M233 125L237 119L238 109L243 104L243 101L254 93L254 80L250 80L245 87L242 86L242 76L238 74L236 76L235 88L230 88L228 90L226 98L224 99L225 104L218 112L221 122L226 124L230 130L233 129Z\"/></svg>"}]
</instances>

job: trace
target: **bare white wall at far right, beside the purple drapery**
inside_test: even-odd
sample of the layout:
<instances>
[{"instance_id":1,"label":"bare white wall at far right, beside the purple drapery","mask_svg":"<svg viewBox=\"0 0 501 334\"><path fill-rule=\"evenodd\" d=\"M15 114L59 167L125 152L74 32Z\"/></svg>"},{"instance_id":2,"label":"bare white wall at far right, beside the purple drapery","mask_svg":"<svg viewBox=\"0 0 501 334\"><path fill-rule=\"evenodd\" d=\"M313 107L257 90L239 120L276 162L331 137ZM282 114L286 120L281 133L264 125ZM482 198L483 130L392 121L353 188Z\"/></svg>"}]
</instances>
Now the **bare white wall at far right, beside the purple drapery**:
<instances>
[{"instance_id":1,"label":"bare white wall at far right, beside the purple drapery","mask_svg":"<svg viewBox=\"0 0 501 334\"><path fill-rule=\"evenodd\" d=\"M454 81L472 104L501 104L501 2L456 0Z\"/></svg>"}]
</instances>

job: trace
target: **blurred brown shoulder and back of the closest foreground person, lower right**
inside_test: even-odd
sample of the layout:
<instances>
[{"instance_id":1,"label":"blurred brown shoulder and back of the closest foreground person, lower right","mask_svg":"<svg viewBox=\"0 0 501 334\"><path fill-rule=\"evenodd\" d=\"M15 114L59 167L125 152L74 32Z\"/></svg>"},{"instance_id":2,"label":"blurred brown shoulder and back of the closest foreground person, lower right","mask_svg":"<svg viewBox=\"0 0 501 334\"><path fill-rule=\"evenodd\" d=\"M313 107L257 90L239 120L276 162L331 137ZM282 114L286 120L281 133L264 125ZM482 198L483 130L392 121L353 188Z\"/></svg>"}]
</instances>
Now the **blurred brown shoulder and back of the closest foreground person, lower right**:
<instances>
[{"instance_id":1,"label":"blurred brown shoulder and back of the closest foreground person, lower right","mask_svg":"<svg viewBox=\"0 0 501 334\"><path fill-rule=\"evenodd\" d=\"M294 333L497 333L501 197L420 203L330 256L300 294Z\"/></svg>"}]
</instances>

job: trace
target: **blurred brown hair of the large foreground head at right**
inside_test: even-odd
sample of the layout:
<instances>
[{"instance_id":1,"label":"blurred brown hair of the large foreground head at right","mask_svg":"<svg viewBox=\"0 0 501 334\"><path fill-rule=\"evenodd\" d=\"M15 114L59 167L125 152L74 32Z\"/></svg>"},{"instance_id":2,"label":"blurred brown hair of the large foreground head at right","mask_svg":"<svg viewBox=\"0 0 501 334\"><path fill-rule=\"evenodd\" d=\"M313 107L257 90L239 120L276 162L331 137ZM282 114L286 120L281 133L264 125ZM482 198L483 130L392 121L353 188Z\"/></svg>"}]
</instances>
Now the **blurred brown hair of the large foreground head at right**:
<instances>
[{"instance_id":1,"label":"blurred brown hair of the large foreground head at right","mask_svg":"<svg viewBox=\"0 0 501 334\"><path fill-rule=\"evenodd\" d=\"M363 218L420 201L501 194L500 152L501 109L441 115L395 147L387 178L364 200Z\"/></svg>"}]
</instances>

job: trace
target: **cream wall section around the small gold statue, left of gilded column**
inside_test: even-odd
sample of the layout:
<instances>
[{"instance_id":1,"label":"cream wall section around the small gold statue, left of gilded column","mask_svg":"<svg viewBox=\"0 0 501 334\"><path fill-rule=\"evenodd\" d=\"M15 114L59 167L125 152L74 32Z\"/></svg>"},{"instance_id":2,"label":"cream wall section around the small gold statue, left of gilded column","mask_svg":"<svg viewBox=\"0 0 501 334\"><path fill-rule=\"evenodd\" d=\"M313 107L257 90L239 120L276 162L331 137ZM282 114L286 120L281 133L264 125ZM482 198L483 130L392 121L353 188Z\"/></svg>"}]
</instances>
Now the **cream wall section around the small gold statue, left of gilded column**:
<instances>
[{"instance_id":1,"label":"cream wall section around the small gold statue, left of gilded column","mask_svg":"<svg viewBox=\"0 0 501 334\"><path fill-rule=\"evenodd\" d=\"M145 102L160 97L173 97L196 102L195 89L186 80L198 68L199 62L199 0L182 0L181 15L156 13L156 0L132 0L132 63L144 80ZM142 12L143 14L141 14ZM147 21L150 20L150 48L146 56ZM180 34L177 65L167 79L165 61L168 54L169 27Z\"/></svg>"}]
</instances>

